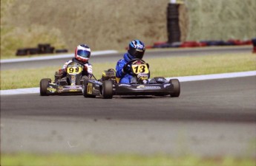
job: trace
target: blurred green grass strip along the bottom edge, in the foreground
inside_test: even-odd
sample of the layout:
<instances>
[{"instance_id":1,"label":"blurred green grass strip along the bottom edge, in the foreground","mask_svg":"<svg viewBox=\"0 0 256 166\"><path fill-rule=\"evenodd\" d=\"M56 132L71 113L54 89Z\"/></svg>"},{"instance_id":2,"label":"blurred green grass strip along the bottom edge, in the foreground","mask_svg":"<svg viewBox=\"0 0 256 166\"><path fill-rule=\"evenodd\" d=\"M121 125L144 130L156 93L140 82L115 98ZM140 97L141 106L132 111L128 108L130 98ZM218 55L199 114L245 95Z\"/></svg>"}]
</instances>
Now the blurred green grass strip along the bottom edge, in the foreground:
<instances>
[{"instance_id":1,"label":"blurred green grass strip along the bottom edge, in the foreground","mask_svg":"<svg viewBox=\"0 0 256 166\"><path fill-rule=\"evenodd\" d=\"M255 162L255 159L235 159L229 156L200 158L197 156L171 157L135 154L1 154L2 166L254 166Z\"/></svg>"}]
</instances>

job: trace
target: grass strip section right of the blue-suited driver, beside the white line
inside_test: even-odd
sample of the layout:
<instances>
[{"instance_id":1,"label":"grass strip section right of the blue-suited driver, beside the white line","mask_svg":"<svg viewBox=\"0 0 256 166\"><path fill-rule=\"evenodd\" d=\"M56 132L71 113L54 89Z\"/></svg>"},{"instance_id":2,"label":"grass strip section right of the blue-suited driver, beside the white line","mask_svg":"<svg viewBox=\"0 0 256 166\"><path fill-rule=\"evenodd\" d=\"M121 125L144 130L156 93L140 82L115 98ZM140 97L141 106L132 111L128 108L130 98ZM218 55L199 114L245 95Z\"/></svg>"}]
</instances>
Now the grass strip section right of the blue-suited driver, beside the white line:
<instances>
[{"instance_id":1,"label":"grass strip section right of the blue-suited driver, beside the white line","mask_svg":"<svg viewBox=\"0 0 256 166\"><path fill-rule=\"evenodd\" d=\"M152 76L208 75L226 72L256 70L256 56L247 54L224 54L148 60Z\"/></svg>"}]
</instances>

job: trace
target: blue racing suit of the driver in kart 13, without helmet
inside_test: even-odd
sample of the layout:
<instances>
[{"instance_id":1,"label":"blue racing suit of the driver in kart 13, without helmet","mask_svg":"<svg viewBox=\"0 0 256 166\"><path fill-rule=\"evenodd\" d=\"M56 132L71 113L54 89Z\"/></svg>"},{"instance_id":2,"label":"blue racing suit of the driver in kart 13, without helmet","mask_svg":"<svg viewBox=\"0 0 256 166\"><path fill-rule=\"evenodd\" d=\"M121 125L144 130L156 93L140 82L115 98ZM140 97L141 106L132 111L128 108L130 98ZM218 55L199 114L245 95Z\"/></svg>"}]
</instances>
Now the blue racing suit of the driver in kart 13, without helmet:
<instances>
[{"instance_id":1,"label":"blue racing suit of the driver in kart 13, without helmet","mask_svg":"<svg viewBox=\"0 0 256 166\"><path fill-rule=\"evenodd\" d=\"M131 83L131 78L133 77L131 68L128 69L128 72L124 72L123 70L125 64L132 60L129 57L131 57L131 55L128 55L128 52L126 52L123 59L118 60L116 63L116 77L120 78L119 83Z\"/></svg>"}]
</instances>

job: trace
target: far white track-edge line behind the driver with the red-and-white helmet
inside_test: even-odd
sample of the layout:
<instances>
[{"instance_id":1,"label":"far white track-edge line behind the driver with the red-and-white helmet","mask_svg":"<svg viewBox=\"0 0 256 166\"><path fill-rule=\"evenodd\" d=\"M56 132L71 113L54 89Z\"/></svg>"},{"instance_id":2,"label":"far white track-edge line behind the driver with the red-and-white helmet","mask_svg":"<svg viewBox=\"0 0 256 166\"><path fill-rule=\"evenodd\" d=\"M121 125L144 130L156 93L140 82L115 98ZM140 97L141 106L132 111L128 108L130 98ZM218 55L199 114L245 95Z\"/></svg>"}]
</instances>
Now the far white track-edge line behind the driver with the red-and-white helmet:
<instances>
[{"instance_id":1,"label":"far white track-edge line behind the driver with the red-and-white helmet","mask_svg":"<svg viewBox=\"0 0 256 166\"><path fill-rule=\"evenodd\" d=\"M106 55L106 54L115 54L115 53L118 53L118 51L105 50L105 51L91 52L91 55L96 56L96 55ZM59 59L59 58L73 58L73 54L48 55L43 57L32 57L32 58L4 59L4 60L0 60L0 63L25 62L25 61L33 61L33 60L50 60L50 59Z\"/></svg>"}]
</instances>

